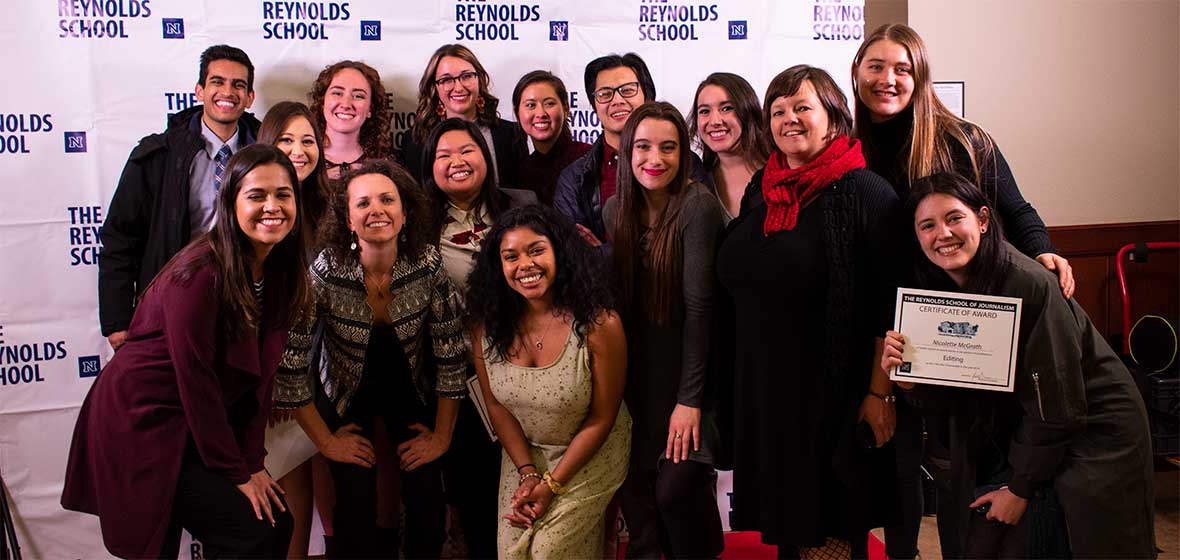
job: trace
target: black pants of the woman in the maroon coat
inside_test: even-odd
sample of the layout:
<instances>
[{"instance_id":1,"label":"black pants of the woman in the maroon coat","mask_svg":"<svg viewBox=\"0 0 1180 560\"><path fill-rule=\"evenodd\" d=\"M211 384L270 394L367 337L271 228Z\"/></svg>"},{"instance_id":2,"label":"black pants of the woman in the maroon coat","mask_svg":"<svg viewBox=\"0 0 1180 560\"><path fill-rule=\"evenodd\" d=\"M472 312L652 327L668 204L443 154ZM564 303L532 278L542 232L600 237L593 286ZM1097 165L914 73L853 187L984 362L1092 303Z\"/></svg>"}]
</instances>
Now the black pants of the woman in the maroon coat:
<instances>
[{"instance_id":1,"label":"black pants of the woman in the maroon coat","mask_svg":"<svg viewBox=\"0 0 1180 560\"><path fill-rule=\"evenodd\" d=\"M206 468L190 446L181 465L172 522L159 558L176 559L182 528L201 541L202 555L208 559L287 558L295 522L290 512L280 512L274 502L270 509L275 518L274 527L264 514L258 520L250 500L237 489L237 485Z\"/></svg>"}]
</instances>

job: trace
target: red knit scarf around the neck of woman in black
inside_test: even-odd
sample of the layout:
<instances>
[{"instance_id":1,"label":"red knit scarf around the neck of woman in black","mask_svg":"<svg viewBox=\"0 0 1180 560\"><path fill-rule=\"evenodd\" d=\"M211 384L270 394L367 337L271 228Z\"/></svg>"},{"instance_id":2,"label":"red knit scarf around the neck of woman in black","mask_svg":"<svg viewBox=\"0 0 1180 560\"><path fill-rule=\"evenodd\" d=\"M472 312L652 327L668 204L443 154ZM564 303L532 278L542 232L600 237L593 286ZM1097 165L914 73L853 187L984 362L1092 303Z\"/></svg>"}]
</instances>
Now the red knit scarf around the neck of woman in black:
<instances>
[{"instance_id":1,"label":"red knit scarf around the neck of woman in black","mask_svg":"<svg viewBox=\"0 0 1180 560\"><path fill-rule=\"evenodd\" d=\"M865 167L860 140L837 137L814 162L791 169L787 157L775 150L762 172L762 199L766 200L766 222L762 235L795 229L799 210L809 204L819 192L845 173Z\"/></svg>"}]
</instances>

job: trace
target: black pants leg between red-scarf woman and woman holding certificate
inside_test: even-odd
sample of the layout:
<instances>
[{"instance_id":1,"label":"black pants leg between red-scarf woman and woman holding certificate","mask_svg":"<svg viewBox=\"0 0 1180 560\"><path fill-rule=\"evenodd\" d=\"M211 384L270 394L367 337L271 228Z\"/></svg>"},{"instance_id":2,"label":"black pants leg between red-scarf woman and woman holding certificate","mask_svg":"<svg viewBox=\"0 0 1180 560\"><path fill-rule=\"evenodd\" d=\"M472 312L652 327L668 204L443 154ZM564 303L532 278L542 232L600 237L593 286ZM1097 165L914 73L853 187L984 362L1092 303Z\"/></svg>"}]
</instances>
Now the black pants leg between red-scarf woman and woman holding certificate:
<instances>
[{"instance_id":1,"label":"black pants leg between red-scarf woman and woman holding certificate","mask_svg":"<svg viewBox=\"0 0 1180 560\"><path fill-rule=\"evenodd\" d=\"M885 555L911 559L918 555L918 529L922 527L922 414L904 400L897 401L897 429L893 430L897 454L897 494L890 523L885 526Z\"/></svg>"}]
</instances>

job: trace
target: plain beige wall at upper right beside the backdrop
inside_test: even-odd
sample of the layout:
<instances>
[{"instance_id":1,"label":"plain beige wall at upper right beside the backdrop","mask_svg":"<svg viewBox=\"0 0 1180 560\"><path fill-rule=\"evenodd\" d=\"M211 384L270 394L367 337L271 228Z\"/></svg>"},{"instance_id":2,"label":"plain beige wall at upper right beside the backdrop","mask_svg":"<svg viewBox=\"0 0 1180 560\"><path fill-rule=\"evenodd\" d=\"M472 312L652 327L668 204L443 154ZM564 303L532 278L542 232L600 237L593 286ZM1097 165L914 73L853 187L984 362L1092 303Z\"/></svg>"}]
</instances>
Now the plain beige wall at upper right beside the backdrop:
<instances>
[{"instance_id":1,"label":"plain beige wall at upper right beside the backdrop","mask_svg":"<svg viewBox=\"0 0 1180 560\"><path fill-rule=\"evenodd\" d=\"M909 0L906 12L933 78L966 83L966 118L995 136L1049 225L1180 218L1180 1Z\"/></svg>"}]
</instances>

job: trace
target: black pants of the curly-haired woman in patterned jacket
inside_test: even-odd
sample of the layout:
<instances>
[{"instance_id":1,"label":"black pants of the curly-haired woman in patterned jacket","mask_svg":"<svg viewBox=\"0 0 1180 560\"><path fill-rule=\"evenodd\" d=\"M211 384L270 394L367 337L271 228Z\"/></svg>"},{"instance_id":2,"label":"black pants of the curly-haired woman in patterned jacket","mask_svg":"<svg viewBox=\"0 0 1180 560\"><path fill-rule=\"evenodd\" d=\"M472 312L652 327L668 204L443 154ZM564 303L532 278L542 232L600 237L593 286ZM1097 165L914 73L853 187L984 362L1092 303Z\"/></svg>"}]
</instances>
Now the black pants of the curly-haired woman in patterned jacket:
<instances>
[{"instance_id":1,"label":"black pants of the curly-haired woman in patterned jacket","mask_svg":"<svg viewBox=\"0 0 1180 560\"><path fill-rule=\"evenodd\" d=\"M316 406L332 430L355 423L361 428L360 435L371 441L380 416L394 446L418 435L408 428L411 423L433 424L425 407L406 400L394 402L388 395L362 380L343 417L335 414L322 394ZM328 469L336 488L332 513L336 556L396 558L400 540L396 528L379 532L376 527L376 468L329 461ZM438 461L401 472L401 502L406 508L405 558L439 558L446 539L446 502Z\"/></svg>"}]
</instances>

